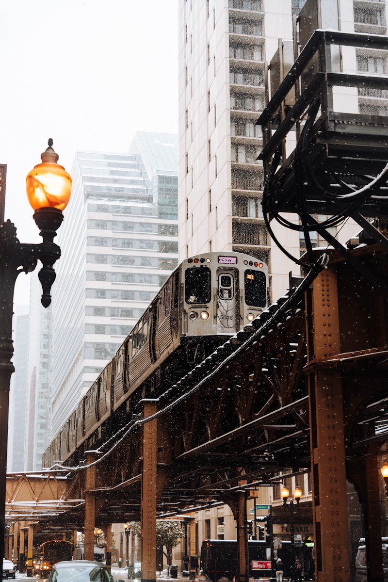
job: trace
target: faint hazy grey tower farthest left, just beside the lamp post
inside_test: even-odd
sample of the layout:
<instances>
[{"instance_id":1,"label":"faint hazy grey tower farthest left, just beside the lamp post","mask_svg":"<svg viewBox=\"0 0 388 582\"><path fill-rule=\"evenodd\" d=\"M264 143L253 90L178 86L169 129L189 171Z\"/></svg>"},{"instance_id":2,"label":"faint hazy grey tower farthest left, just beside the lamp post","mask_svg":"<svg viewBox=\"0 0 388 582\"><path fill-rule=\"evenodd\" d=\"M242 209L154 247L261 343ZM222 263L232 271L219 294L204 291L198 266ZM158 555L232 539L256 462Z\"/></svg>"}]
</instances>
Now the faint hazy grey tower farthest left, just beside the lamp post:
<instances>
[{"instance_id":1,"label":"faint hazy grey tower farthest left, just beside the lamp post","mask_svg":"<svg viewBox=\"0 0 388 582\"><path fill-rule=\"evenodd\" d=\"M25 435L27 424L27 354L29 315L26 307L15 308L13 342L15 352L9 392L8 473L24 471Z\"/></svg>"}]
</instances>

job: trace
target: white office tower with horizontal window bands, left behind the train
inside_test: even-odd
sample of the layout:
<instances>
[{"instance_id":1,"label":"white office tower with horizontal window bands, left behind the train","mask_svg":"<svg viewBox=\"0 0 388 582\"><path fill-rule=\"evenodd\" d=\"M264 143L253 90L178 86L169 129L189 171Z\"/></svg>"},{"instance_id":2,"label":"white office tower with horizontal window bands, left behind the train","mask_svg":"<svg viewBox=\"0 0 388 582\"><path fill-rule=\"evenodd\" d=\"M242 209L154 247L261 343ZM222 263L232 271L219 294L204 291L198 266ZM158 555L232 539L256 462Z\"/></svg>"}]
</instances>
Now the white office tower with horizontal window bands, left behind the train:
<instances>
[{"instance_id":1,"label":"white office tower with horizontal window bands, left behind the train","mask_svg":"<svg viewBox=\"0 0 388 582\"><path fill-rule=\"evenodd\" d=\"M53 286L51 437L177 265L177 137L77 152Z\"/></svg>"}]
</instances>

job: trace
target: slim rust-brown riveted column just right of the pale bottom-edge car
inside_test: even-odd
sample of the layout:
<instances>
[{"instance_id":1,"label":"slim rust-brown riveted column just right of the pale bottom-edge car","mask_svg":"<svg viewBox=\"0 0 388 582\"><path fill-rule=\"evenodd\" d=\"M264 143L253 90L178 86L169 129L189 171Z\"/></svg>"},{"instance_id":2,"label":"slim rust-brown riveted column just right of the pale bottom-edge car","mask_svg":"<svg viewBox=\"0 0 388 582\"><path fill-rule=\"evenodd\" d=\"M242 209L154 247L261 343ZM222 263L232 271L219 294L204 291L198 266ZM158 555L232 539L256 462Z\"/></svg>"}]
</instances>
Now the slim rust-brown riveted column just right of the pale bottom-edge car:
<instances>
[{"instance_id":1,"label":"slim rust-brown riveted column just right of the pale bottom-edge car","mask_svg":"<svg viewBox=\"0 0 388 582\"><path fill-rule=\"evenodd\" d=\"M156 412L156 400L143 399L144 418ZM157 421L143 424L143 471L141 475L141 575L143 582L156 579L156 462Z\"/></svg>"}]
</instances>

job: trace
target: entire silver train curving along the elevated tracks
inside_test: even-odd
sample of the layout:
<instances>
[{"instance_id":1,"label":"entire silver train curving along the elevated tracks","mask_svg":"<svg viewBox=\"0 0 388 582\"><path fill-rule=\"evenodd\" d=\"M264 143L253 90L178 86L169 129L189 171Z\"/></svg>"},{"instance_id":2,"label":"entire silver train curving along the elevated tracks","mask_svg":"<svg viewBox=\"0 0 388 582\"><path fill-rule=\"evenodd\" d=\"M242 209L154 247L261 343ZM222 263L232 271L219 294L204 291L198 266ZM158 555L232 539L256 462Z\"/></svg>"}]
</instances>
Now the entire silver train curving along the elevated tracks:
<instances>
[{"instance_id":1,"label":"entire silver train curving along the elevated tracks","mask_svg":"<svg viewBox=\"0 0 388 582\"><path fill-rule=\"evenodd\" d=\"M66 421L43 456L44 466L69 459L104 437L159 396L227 336L268 305L268 267L243 253L204 253L181 262Z\"/></svg>"}]
</instances>

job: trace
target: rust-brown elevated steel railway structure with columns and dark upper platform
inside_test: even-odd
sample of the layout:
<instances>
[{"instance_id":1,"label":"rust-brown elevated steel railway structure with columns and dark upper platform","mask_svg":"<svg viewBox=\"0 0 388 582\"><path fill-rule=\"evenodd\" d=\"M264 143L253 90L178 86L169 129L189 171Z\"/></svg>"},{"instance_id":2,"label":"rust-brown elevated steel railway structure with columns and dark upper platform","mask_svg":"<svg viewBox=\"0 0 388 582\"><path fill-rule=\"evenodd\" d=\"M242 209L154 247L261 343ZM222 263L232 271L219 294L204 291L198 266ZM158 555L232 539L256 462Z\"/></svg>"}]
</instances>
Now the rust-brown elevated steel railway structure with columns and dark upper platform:
<instances>
[{"instance_id":1,"label":"rust-brown elevated steel railway structure with columns and dark upper platform","mask_svg":"<svg viewBox=\"0 0 388 582\"><path fill-rule=\"evenodd\" d=\"M308 248L304 278L291 281L283 297L160 398L143 400L141 418L87 452L83 464L73 459L67 468L40 475L8 475L6 512L15 522L14 547L22 521L29 529L29 558L34 533L84 527L90 559L97 520L109 545L109 524L141 519L143 580L155 580L156 518L227 503L237 521L239 580L245 582L247 492L271 486L287 468L289 475L311 471L316 580L350 581L347 480L363 508L368 580L383 580L376 540L382 521L378 464L388 439L388 241L363 217L366 211L388 214L387 178L378 186L373 182L387 161L388 119L356 115L350 122L330 106L336 84L365 83L359 75L330 70L333 45L360 42L388 48L386 37L316 31L261 118L269 200L276 191L271 218L284 208L300 211L302 190L308 194L304 232L314 227L323 233L306 212L326 204L336 215L344 208L341 192L356 193L351 215L362 225L358 238L343 247L328 235L334 248L325 253ZM289 91L312 62L315 75L297 91L294 105L287 105ZM381 79L368 83L380 86ZM284 140L296 123L304 148L287 158ZM353 136L351 154L344 127ZM327 187L328 175L334 175L337 201L329 204L319 191L311 195L308 179L300 176L306 151ZM338 176L344 152L346 171ZM360 165L362 178L354 174ZM358 193L360 180L372 184L368 196ZM8 539L10 548L12 535Z\"/></svg>"}]
</instances>

